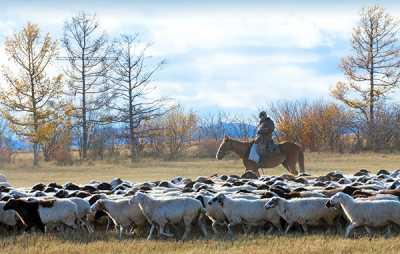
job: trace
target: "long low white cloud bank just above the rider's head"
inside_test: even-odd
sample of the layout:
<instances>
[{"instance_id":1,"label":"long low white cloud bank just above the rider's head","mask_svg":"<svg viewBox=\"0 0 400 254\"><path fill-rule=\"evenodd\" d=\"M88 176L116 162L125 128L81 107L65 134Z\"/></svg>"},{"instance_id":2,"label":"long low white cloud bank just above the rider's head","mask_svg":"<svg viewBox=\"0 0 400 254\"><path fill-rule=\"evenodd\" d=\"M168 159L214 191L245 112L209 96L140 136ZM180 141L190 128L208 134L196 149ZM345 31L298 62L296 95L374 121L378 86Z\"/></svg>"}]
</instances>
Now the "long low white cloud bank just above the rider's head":
<instances>
[{"instance_id":1,"label":"long low white cloud bank just above the rider's head","mask_svg":"<svg viewBox=\"0 0 400 254\"><path fill-rule=\"evenodd\" d=\"M251 67L241 67L243 73ZM216 70L218 72L218 70ZM237 69L232 70L232 72ZM209 76L216 75L210 73ZM340 74L322 75L316 71L292 66L269 66L262 75L193 83L159 82L159 95L170 95L179 103L191 106L216 105L230 110L257 109L260 105L282 99L321 98L329 96L329 87L341 79Z\"/></svg>"}]
</instances>

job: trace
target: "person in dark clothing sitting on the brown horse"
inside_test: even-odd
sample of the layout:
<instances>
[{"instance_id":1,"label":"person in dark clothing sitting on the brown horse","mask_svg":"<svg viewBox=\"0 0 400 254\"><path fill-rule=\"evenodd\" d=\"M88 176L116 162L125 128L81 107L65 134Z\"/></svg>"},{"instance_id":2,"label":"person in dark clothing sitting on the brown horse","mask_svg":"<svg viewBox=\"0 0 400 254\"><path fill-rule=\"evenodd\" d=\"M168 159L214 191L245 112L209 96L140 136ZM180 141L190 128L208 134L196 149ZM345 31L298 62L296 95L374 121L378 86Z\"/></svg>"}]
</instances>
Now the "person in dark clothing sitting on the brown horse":
<instances>
[{"instance_id":1,"label":"person in dark clothing sitting on the brown horse","mask_svg":"<svg viewBox=\"0 0 400 254\"><path fill-rule=\"evenodd\" d=\"M265 111L261 111L258 115L260 121L257 126L256 137L254 143L257 145L257 153L260 156L258 163L270 154L274 149L274 141L272 140L272 132L275 130L275 124L267 116Z\"/></svg>"}]
</instances>

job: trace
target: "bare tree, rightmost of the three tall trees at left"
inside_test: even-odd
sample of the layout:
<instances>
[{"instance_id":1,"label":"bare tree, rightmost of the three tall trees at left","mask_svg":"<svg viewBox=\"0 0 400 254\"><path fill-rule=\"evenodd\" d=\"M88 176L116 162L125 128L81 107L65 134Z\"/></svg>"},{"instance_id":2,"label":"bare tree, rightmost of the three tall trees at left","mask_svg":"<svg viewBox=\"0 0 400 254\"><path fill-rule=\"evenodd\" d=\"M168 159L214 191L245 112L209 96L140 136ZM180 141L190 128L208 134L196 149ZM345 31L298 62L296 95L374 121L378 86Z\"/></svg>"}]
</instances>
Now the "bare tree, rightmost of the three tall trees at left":
<instances>
[{"instance_id":1,"label":"bare tree, rightmost of the three tall trees at left","mask_svg":"<svg viewBox=\"0 0 400 254\"><path fill-rule=\"evenodd\" d=\"M150 81L164 64L164 61L150 61L146 55L147 46L140 46L138 35L122 35L118 42L118 60L112 78L113 100L110 108L116 111L114 122L129 126L128 140L131 160L138 158L138 135L135 131L144 120L164 114L162 98L149 99L153 91Z\"/></svg>"}]
</instances>

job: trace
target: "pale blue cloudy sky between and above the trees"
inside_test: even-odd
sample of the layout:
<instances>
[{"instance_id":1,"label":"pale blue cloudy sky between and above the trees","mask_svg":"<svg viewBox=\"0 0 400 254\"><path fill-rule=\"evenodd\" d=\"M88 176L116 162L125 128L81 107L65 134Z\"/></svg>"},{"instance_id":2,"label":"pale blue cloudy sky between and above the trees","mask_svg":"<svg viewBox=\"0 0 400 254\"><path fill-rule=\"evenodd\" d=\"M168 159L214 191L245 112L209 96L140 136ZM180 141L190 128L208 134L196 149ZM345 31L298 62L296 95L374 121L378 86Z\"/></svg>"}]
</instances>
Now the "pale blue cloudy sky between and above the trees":
<instances>
[{"instance_id":1,"label":"pale blue cloudy sky between and above the trees","mask_svg":"<svg viewBox=\"0 0 400 254\"><path fill-rule=\"evenodd\" d=\"M28 21L61 38L65 21L85 11L110 38L139 33L149 55L166 60L152 96L238 114L282 100L331 100L360 10L376 1L276 2L0 0L0 64L4 39ZM379 4L400 17L398 1Z\"/></svg>"}]
</instances>

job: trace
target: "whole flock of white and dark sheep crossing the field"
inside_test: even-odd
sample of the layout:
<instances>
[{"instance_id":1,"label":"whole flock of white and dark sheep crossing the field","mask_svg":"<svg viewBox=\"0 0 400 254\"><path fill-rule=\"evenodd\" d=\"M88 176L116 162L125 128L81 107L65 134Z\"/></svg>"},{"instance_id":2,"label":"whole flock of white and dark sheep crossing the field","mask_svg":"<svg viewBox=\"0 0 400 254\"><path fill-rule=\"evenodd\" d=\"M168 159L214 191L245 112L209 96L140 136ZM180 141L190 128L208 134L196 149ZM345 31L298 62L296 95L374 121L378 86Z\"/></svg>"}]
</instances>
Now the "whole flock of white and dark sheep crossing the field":
<instances>
[{"instance_id":1,"label":"whole flock of white and dark sheep crossing the field","mask_svg":"<svg viewBox=\"0 0 400 254\"><path fill-rule=\"evenodd\" d=\"M195 180L133 183L113 179L86 185L13 188L0 177L0 223L7 230L145 232L187 239L243 233L288 233L315 228L349 237L355 228L391 234L400 226L400 170L320 177L214 175ZM70 228L70 229L68 229ZM155 234L157 232L157 234ZM183 233L182 233L183 232Z\"/></svg>"}]
</instances>

